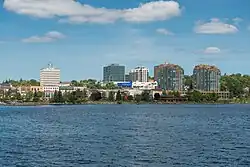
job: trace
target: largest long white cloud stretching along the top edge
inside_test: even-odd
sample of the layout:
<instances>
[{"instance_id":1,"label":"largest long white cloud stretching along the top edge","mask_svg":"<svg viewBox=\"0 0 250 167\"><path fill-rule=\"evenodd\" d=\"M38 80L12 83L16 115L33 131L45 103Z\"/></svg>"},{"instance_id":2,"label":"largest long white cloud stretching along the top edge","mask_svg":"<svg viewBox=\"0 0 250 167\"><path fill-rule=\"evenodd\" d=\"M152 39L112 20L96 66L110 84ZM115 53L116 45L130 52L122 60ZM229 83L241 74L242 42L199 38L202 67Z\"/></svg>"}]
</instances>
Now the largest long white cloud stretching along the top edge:
<instances>
[{"instance_id":1,"label":"largest long white cloud stretching along the top edge","mask_svg":"<svg viewBox=\"0 0 250 167\"><path fill-rule=\"evenodd\" d=\"M82 5L73 0L5 0L4 8L38 18L59 18L69 23L110 23L117 20L149 22L167 20L181 14L175 1L156 1L141 4L138 8L107 9Z\"/></svg>"}]
</instances>

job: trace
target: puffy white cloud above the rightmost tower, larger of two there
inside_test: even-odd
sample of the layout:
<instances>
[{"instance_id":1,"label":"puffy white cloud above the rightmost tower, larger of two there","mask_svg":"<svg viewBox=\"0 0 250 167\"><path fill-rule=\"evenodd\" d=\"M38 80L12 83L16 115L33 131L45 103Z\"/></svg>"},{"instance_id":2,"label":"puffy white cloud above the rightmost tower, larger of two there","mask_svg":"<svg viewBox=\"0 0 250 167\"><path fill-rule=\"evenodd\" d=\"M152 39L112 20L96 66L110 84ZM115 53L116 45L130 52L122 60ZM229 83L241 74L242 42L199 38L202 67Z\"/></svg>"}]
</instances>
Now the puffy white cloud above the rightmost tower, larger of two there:
<instances>
[{"instance_id":1,"label":"puffy white cloud above the rightmost tower, larger of two there","mask_svg":"<svg viewBox=\"0 0 250 167\"><path fill-rule=\"evenodd\" d=\"M206 23L198 21L194 31L198 34L233 34L239 30L234 25L230 25L217 18L213 18L210 22Z\"/></svg>"}]
</instances>

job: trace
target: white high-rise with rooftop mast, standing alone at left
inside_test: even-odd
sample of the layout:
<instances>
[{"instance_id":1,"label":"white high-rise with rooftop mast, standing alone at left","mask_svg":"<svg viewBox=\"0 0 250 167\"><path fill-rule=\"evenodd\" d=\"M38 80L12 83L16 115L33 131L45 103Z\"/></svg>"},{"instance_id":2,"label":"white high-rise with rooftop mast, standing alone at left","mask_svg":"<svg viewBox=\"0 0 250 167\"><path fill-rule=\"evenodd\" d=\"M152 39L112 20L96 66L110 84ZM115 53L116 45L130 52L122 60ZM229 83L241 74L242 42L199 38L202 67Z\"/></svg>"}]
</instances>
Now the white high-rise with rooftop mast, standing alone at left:
<instances>
[{"instance_id":1,"label":"white high-rise with rooftop mast, standing alone at left","mask_svg":"<svg viewBox=\"0 0 250 167\"><path fill-rule=\"evenodd\" d=\"M59 86L60 84L60 69L54 68L52 64L40 70L40 85L45 86Z\"/></svg>"}]
</instances>

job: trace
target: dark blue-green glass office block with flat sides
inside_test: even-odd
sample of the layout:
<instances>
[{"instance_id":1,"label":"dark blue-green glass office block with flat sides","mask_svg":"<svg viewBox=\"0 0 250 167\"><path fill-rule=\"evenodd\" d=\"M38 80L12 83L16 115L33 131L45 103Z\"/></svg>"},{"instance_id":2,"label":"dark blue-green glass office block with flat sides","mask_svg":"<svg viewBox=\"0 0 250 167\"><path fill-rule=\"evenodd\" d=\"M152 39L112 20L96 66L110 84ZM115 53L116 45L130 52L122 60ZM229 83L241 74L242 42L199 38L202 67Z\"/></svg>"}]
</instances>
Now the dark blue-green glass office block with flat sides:
<instances>
[{"instance_id":1,"label":"dark blue-green glass office block with flat sides","mask_svg":"<svg viewBox=\"0 0 250 167\"><path fill-rule=\"evenodd\" d=\"M103 67L103 82L123 82L125 81L125 66L111 64Z\"/></svg>"}]
</instances>

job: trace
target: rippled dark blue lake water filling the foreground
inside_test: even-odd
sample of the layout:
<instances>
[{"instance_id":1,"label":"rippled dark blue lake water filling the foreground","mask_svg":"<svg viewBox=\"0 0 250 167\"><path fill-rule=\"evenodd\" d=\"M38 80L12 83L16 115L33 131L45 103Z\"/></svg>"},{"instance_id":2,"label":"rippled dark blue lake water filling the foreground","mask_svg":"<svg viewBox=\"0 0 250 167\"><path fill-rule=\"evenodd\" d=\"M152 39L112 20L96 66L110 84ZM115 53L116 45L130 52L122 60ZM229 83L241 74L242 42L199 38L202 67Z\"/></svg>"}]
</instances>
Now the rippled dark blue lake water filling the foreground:
<instances>
[{"instance_id":1,"label":"rippled dark blue lake water filling the foreground","mask_svg":"<svg viewBox=\"0 0 250 167\"><path fill-rule=\"evenodd\" d=\"M0 166L250 166L250 106L1 107Z\"/></svg>"}]
</instances>

